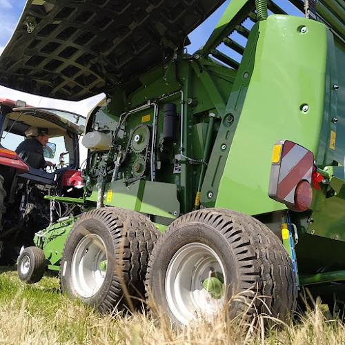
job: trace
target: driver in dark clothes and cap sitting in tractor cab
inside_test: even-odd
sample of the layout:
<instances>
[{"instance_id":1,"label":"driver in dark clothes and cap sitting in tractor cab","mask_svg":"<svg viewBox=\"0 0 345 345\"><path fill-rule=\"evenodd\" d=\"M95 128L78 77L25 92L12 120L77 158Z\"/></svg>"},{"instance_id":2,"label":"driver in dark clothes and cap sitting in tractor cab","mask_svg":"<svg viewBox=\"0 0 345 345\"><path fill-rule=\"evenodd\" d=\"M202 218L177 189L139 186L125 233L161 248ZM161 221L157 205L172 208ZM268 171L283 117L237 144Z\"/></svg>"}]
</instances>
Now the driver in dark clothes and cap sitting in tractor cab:
<instances>
[{"instance_id":1,"label":"driver in dark clothes and cap sitting in tractor cab","mask_svg":"<svg viewBox=\"0 0 345 345\"><path fill-rule=\"evenodd\" d=\"M46 166L53 166L51 161L46 161L43 157L43 147L48 143L48 139L45 132L39 132L37 137L22 141L16 152L32 168L43 169Z\"/></svg>"}]
</instances>

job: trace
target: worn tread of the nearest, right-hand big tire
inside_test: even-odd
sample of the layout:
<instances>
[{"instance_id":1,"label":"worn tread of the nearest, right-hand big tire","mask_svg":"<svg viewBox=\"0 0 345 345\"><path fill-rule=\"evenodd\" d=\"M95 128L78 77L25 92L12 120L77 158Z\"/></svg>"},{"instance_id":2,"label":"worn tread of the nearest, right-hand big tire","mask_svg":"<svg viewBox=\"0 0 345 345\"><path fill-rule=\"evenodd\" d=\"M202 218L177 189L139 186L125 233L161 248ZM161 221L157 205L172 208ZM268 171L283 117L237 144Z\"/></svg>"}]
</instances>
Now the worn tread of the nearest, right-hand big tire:
<instances>
[{"instance_id":1,"label":"worn tread of the nearest, right-hand big tire","mask_svg":"<svg viewBox=\"0 0 345 345\"><path fill-rule=\"evenodd\" d=\"M271 313L284 319L295 311L297 284L292 262L282 243L272 231L257 219L233 210L206 208L179 217L158 239L148 264L146 296L150 295L150 276L159 247L182 225L207 224L219 231L235 254L240 273L239 293L248 297L253 306L242 305L246 317L257 313ZM250 291L251 290L251 291ZM253 290L260 298L254 299ZM269 306L270 311L267 310Z\"/></svg>"}]
</instances>

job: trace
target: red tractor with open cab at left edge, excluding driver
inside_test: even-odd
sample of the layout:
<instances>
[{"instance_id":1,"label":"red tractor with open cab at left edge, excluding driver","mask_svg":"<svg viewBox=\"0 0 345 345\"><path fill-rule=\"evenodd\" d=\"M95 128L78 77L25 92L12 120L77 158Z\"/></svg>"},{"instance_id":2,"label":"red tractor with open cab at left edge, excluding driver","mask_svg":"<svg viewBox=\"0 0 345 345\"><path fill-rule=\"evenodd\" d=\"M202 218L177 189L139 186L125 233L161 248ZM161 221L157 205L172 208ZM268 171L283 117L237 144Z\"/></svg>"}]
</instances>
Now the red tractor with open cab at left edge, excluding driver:
<instances>
[{"instance_id":1,"label":"red tractor with open cab at left edge, excluding driver","mask_svg":"<svg viewBox=\"0 0 345 345\"><path fill-rule=\"evenodd\" d=\"M55 203L45 195L79 197L79 139L85 117L72 112L26 106L0 99L0 264L14 264L22 246L33 245L34 234L52 222L79 213L78 206ZM43 157L53 166L32 168L17 146L45 132ZM55 152L58 152L55 155ZM22 154L23 153L23 154Z\"/></svg>"}]
</instances>

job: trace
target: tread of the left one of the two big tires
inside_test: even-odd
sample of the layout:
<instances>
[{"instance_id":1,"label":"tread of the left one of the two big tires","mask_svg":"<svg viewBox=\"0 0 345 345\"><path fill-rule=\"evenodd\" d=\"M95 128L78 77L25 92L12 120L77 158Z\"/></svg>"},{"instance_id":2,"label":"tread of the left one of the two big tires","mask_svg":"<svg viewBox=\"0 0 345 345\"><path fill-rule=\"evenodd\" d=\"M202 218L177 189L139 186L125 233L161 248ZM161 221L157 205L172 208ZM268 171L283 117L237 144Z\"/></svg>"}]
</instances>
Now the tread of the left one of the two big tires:
<instances>
[{"instance_id":1,"label":"tread of the left one of the two big tires","mask_svg":"<svg viewBox=\"0 0 345 345\"><path fill-rule=\"evenodd\" d=\"M152 221L141 215L141 213L121 208L104 207L90 210L81 215L68 237L85 219L98 219L107 226L115 248L114 262L116 264L121 260L121 268L115 269L108 293L98 305L99 311L103 313L111 311L119 304L120 300L121 307L130 307L130 303L126 301L126 298L122 297L126 292L131 297L133 295L136 297L144 296L144 277L148 266L148 258L153 245L157 241L159 231ZM63 252L66 250L66 246L68 246L68 238ZM63 259L61 259L61 264L62 262ZM119 272L121 273L120 276ZM60 286L61 290L64 290L61 277ZM136 306L139 301L131 299L131 303Z\"/></svg>"}]
</instances>

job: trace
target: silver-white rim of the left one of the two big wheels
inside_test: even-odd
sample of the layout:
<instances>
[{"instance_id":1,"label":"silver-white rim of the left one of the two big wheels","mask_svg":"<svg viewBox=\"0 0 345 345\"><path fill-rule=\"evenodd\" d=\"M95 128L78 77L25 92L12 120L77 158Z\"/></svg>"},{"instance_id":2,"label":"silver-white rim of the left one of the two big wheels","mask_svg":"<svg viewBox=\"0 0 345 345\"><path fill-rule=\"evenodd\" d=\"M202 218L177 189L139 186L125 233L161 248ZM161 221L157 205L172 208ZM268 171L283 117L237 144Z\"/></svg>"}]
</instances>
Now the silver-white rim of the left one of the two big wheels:
<instances>
[{"instance_id":1,"label":"silver-white rim of the left one of the two big wheels","mask_svg":"<svg viewBox=\"0 0 345 345\"><path fill-rule=\"evenodd\" d=\"M106 246L98 235L83 237L72 257L72 284L77 293L84 298L96 295L106 277ZM102 269L101 269L102 268Z\"/></svg>"}]
</instances>

